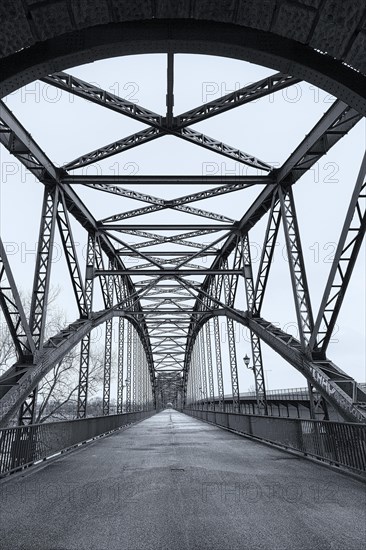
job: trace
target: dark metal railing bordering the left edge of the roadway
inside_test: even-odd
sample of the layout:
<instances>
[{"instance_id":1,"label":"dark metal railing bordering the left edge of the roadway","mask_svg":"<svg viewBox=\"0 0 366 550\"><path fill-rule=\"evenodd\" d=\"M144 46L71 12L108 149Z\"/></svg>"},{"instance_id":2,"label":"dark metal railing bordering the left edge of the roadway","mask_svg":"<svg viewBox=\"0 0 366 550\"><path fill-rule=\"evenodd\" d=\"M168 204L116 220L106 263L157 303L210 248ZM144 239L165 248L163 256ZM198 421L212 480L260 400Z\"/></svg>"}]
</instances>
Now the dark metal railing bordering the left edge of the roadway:
<instances>
[{"instance_id":1,"label":"dark metal railing bordering the left edge of the roadway","mask_svg":"<svg viewBox=\"0 0 366 550\"><path fill-rule=\"evenodd\" d=\"M0 476L155 414L139 411L0 430Z\"/></svg>"}]
</instances>

